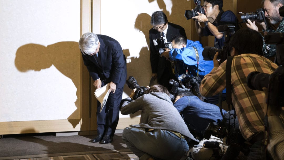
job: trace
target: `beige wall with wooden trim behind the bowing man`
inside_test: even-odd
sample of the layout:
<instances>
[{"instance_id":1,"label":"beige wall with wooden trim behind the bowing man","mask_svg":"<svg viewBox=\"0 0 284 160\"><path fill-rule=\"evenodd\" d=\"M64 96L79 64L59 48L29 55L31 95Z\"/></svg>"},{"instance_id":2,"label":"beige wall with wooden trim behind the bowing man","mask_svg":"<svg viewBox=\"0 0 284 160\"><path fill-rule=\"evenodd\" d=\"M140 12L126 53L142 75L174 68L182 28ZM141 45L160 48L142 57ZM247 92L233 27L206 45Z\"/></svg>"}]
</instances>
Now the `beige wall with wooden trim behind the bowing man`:
<instances>
[{"instance_id":1,"label":"beige wall with wooden trim behind the bowing man","mask_svg":"<svg viewBox=\"0 0 284 160\"><path fill-rule=\"evenodd\" d=\"M185 28L188 39L199 40L193 20L184 17L185 10L195 7L193 1L93 0L92 23L90 2L0 0L0 127L7 130L0 134L96 129L94 91L89 91L89 73L78 49L85 32L118 40L128 76L142 86L151 78L153 11L164 11L169 22ZM224 10L233 10L232 2L224 2ZM206 41L202 39L204 46ZM125 86L123 97L130 92ZM118 128L139 122L139 114L120 116Z\"/></svg>"}]
</instances>

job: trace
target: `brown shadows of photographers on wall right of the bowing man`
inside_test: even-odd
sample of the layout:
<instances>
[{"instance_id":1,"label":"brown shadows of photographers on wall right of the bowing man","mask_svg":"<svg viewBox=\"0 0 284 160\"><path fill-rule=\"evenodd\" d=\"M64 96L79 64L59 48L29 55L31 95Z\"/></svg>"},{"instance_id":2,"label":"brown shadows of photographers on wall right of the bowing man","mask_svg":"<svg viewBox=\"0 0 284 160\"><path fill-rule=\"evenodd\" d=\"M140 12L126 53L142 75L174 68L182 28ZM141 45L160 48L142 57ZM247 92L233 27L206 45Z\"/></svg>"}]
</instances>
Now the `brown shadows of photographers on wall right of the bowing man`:
<instances>
[{"instance_id":1,"label":"brown shadows of photographers on wall right of the bowing man","mask_svg":"<svg viewBox=\"0 0 284 160\"><path fill-rule=\"evenodd\" d=\"M185 10L190 9L190 1L172 1L171 13L166 10L166 3L164 0L148 0L149 3L156 1L159 8L167 15L169 22L178 24L185 28L185 32L190 34L190 21L187 21L184 17ZM154 11L153 11L154 12ZM149 82L152 75L151 63L150 63L150 50L149 50L149 30L151 26L151 15L147 13L140 13L137 15L135 20L134 28L143 32L145 35L145 40L147 42L147 47L142 47L139 52L139 58L131 57L130 63L127 64L127 74L128 76L133 76L140 86L149 86ZM124 54L129 56L128 50L124 50ZM131 93L128 87L125 87L124 92Z\"/></svg>"}]
</instances>

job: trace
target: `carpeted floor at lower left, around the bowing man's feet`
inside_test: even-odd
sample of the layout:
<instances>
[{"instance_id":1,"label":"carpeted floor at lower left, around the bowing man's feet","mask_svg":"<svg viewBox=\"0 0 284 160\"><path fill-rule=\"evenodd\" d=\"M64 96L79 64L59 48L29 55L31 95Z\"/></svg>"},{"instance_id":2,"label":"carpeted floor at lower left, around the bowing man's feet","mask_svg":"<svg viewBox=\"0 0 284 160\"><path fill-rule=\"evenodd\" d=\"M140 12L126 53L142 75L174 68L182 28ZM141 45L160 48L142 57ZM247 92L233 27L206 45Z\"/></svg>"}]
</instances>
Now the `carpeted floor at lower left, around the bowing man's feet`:
<instances>
[{"instance_id":1,"label":"carpeted floor at lower left, around the bowing man's feet","mask_svg":"<svg viewBox=\"0 0 284 160\"><path fill-rule=\"evenodd\" d=\"M3 159L27 159L39 158L61 160L75 160L78 158L58 157L70 155L93 155L99 159L97 154L130 152L121 139L121 133L115 134L112 143L99 144L91 143L92 136L55 136L55 135L36 135L36 136L14 136L0 140L0 160ZM119 155L119 154L118 154ZM122 154L123 155L123 154ZM95 157L97 156L97 157ZM48 157L48 158L47 158ZM82 157L82 156L81 156ZM92 156L91 156L92 157ZM128 156L128 158L130 158ZM125 159L125 158L124 158ZM127 159L127 157L126 157Z\"/></svg>"}]
</instances>

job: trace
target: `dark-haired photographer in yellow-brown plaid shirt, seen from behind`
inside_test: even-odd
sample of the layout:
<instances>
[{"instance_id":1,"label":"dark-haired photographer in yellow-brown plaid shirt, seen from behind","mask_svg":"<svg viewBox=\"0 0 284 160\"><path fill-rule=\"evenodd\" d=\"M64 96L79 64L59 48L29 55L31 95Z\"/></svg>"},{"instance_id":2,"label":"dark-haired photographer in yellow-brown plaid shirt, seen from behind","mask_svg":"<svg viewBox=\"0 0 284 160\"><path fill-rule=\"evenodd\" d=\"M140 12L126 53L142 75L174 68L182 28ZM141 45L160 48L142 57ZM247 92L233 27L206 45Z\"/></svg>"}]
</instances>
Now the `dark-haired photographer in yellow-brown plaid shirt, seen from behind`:
<instances>
[{"instance_id":1,"label":"dark-haired photographer in yellow-brown plaid shirt, seen from behind","mask_svg":"<svg viewBox=\"0 0 284 160\"><path fill-rule=\"evenodd\" d=\"M264 92L252 90L247 86L247 76L258 71L272 74L278 66L262 55L262 36L249 28L238 30L229 43L231 56L231 88L232 102L235 107L239 128L245 140L249 141L249 157L265 159L264 142ZM205 75L200 85L203 96L215 95L226 87L227 60L220 64L215 54L214 68Z\"/></svg>"}]
</instances>

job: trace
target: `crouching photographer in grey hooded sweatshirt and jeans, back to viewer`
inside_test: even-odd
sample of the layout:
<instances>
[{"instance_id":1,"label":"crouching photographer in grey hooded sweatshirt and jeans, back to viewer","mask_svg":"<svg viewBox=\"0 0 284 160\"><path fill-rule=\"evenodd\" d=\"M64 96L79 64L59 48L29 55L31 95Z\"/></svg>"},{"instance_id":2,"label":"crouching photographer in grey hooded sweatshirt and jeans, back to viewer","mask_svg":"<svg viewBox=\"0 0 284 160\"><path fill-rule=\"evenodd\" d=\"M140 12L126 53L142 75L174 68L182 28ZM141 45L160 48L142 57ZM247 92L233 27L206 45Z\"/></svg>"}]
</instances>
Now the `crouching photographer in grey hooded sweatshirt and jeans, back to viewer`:
<instances>
[{"instance_id":1,"label":"crouching photographer in grey hooded sweatshirt and jeans, back to viewer","mask_svg":"<svg viewBox=\"0 0 284 160\"><path fill-rule=\"evenodd\" d=\"M140 160L168 159L179 160L199 141L173 106L168 89L154 85L140 97L123 99L120 112L128 115L142 110L140 123L126 127L122 140Z\"/></svg>"}]
</instances>

